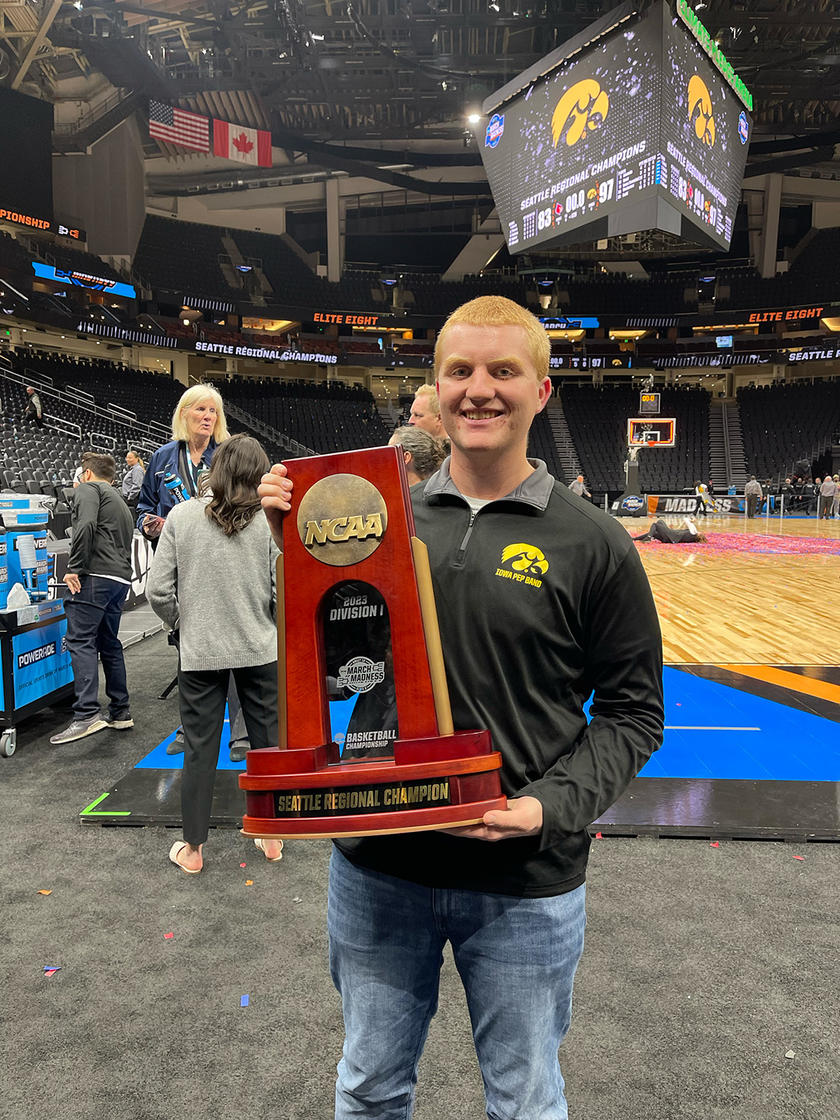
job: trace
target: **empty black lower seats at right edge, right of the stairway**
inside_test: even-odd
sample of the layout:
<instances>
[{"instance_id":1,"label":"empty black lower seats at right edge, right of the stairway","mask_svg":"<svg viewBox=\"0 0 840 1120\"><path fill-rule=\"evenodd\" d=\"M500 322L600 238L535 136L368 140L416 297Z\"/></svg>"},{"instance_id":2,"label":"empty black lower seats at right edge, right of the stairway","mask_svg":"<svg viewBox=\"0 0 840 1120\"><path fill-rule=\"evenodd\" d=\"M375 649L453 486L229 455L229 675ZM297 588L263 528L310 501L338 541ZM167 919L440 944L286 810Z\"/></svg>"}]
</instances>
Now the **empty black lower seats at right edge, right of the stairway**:
<instances>
[{"instance_id":1,"label":"empty black lower seats at right edge, right of the stairway","mask_svg":"<svg viewBox=\"0 0 840 1120\"><path fill-rule=\"evenodd\" d=\"M738 390L747 469L785 478L800 459L812 463L840 431L840 381Z\"/></svg>"}]
</instances>

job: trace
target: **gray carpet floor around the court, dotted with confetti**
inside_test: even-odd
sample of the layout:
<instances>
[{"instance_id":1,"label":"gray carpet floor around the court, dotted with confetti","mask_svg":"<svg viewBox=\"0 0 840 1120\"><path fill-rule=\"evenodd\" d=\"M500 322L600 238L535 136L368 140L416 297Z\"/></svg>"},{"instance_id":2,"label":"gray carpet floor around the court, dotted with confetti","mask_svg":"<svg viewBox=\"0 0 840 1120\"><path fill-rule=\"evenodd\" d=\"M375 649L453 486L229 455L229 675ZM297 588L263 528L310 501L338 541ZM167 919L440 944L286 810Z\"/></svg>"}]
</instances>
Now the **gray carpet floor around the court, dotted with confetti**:
<instances>
[{"instance_id":1,"label":"gray carpet floor around the court, dotted with confetti","mask_svg":"<svg viewBox=\"0 0 840 1120\"><path fill-rule=\"evenodd\" d=\"M0 759L0 1117L329 1120L329 846L269 865L218 830L190 878L166 859L175 830L80 824L177 724L177 693L155 699L162 636L127 663L133 730L50 747L67 711L47 709ZM598 840L588 915L572 1120L840 1118L839 844ZM416 1120L484 1116L447 959Z\"/></svg>"}]
</instances>

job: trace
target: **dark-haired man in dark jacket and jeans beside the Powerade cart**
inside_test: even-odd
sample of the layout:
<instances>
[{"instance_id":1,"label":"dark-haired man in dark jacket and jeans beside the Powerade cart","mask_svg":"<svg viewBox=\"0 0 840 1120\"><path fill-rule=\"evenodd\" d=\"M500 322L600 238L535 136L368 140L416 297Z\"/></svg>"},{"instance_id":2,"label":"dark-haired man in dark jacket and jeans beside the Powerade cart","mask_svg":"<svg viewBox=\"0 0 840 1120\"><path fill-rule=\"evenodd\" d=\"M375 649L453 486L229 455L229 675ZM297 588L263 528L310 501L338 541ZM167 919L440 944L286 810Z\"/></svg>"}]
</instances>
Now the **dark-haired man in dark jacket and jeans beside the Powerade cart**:
<instances>
[{"instance_id":1,"label":"dark-haired man in dark jacket and jeans beside the Powerade cart","mask_svg":"<svg viewBox=\"0 0 840 1120\"><path fill-rule=\"evenodd\" d=\"M76 488L71 523L73 543L64 582L67 650L73 664L73 721L49 741L73 743L106 727L134 726L129 708L125 659L119 629L122 604L131 586L131 512L114 489L116 463L111 455L87 452ZM99 701L99 661L105 673L108 719Z\"/></svg>"}]
</instances>

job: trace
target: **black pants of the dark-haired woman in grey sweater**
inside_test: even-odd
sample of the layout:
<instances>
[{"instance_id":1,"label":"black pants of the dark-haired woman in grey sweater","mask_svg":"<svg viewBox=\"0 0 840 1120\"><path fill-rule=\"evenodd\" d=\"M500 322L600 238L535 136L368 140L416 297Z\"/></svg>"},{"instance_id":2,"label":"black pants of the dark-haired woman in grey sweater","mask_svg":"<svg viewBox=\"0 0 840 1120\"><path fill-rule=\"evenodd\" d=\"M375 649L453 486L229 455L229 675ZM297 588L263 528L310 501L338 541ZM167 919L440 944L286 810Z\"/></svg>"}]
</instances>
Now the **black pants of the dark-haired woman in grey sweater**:
<instances>
[{"instance_id":1,"label":"black pants of the dark-haired woman in grey sweater","mask_svg":"<svg viewBox=\"0 0 840 1120\"><path fill-rule=\"evenodd\" d=\"M197 847L207 839L216 760L222 739L227 682L233 673L252 747L277 746L277 662L208 672L178 670L184 774L180 805L184 839Z\"/></svg>"}]
</instances>

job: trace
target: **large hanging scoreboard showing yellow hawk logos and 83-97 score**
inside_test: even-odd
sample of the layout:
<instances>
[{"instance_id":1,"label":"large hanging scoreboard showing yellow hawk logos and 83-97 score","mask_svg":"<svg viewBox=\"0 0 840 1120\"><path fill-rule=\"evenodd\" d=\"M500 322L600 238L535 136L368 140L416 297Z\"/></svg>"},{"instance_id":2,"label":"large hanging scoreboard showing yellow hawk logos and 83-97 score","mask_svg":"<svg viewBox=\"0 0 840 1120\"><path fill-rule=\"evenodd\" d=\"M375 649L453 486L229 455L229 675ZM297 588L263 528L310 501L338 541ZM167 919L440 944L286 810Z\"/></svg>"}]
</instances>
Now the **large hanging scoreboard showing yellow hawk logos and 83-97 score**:
<instances>
[{"instance_id":1,"label":"large hanging scoreboard showing yellow hawk logos and 83-97 score","mask_svg":"<svg viewBox=\"0 0 840 1120\"><path fill-rule=\"evenodd\" d=\"M510 251L643 230L727 249L750 108L687 0L614 9L484 103Z\"/></svg>"}]
</instances>

